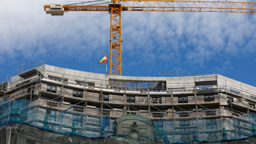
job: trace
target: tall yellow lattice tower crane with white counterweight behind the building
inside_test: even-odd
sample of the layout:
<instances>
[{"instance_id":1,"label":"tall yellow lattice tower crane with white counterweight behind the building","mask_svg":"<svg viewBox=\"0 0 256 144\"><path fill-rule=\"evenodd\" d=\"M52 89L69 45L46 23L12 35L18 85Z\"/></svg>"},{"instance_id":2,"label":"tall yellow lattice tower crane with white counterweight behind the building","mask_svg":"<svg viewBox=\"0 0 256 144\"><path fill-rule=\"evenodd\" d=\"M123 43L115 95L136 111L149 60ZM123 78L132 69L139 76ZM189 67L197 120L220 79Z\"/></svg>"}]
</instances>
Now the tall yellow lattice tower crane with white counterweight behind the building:
<instances>
[{"instance_id":1,"label":"tall yellow lattice tower crane with white counterweight behind the building","mask_svg":"<svg viewBox=\"0 0 256 144\"><path fill-rule=\"evenodd\" d=\"M122 11L183 11L256 13L256 3L231 1L165 1L165 0L106 0L44 5L46 14L63 15L67 11L108 11L110 21L110 75L121 75Z\"/></svg>"}]
</instances>

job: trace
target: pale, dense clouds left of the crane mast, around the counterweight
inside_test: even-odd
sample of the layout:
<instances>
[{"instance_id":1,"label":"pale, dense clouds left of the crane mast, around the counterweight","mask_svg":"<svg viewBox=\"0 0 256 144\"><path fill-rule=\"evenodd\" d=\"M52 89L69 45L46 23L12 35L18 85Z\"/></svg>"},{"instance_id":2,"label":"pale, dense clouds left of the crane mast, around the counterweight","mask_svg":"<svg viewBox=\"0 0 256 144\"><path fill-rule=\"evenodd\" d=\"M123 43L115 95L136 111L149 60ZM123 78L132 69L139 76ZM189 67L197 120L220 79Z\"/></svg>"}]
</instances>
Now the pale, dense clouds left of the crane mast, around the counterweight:
<instances>
[{"instance_id":1,"label":"pale, dense clouds left of the crane mast, around the counterweight","mask_svg":"<svg viewBox=\"0 0 256 144\"><path fill-rule=\"evenodd\" d=\"M46 3L51 1L2 3L4 8L0 11L6 13L0 16L3 20L0 28L2 59L13 60L26 55L26 59L34 60L43 55L86 61L93 55L106 54L102 49L109 46L107 12L74 12L65 13L64 17L51 17L43 10Z\"/></svg>"}]
</instances>

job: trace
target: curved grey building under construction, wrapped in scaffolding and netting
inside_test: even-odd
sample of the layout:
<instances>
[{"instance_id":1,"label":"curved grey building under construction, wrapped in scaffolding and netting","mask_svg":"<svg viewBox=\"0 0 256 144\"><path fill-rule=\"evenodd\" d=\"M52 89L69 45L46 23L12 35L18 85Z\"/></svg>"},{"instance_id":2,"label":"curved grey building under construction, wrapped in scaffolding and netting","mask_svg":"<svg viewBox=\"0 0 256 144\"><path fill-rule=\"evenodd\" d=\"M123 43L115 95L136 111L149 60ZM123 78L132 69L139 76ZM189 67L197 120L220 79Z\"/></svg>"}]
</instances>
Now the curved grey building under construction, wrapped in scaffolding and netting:
<instances>
[{"instance_id":1,"label":"curved grey building under construction, wrapped in scaffolding and netting","mask_svg":"<svg viewBox=\"0 0 256 144\"><path fill-rule=\"evenodd\" d=\"M167 74L22 66L1 79L0 143L255 141L256 87L218 74Z\"/></svg>"}]
</instances>

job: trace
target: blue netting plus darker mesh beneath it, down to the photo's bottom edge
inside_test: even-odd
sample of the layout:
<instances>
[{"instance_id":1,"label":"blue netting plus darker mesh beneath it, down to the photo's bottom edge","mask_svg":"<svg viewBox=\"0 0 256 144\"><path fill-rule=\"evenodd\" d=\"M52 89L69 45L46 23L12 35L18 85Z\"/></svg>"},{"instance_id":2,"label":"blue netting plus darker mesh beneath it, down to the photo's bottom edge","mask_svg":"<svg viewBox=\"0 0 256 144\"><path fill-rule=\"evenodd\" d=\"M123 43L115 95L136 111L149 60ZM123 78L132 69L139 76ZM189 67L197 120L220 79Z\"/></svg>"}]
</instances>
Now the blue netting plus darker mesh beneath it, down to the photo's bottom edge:
<instances>
[{"instance_id":1,"label":"blue netting plus darker mesh beneath it, down to the photo's bottom edge","mask_svg":"<svg viewBox=\"0 0 256 144\"><path fill-rule=\"evenodd\" d=\"M134 139L116 134L115 120L108 116L45 109L26 99L1 99L0 143L256 143L255 118L248 113L222 119L159 119L152 126L153 138Z\"/></svg>"}]
</instances>

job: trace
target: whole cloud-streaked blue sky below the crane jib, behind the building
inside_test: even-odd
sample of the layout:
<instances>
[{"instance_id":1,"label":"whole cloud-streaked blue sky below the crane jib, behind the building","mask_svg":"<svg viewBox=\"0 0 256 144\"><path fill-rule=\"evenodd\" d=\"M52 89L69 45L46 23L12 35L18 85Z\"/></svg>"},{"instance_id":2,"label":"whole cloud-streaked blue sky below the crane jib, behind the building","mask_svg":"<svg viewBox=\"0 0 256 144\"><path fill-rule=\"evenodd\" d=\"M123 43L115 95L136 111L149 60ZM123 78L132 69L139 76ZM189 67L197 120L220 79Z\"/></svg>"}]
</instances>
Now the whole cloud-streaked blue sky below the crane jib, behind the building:
<instances>
[{"instance_id":1,"label":"whole cloud-streaked blue sky below the crane jib, behind the building","mask_svg":"<svg viewBox=\"0 0 256 144\"><path fill-rule=\"evenodd\" d=\"M105 73L110 14L46 14L46 3L1 1L0 77L14 76L22 63ZM122 75L159 71L218 73L256 86L256 14L213 12L123 12ZM108 68L109 69L109 68Z\"/></svg>"}]
</instances>

